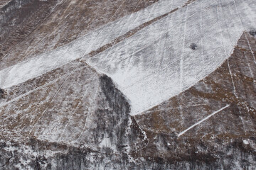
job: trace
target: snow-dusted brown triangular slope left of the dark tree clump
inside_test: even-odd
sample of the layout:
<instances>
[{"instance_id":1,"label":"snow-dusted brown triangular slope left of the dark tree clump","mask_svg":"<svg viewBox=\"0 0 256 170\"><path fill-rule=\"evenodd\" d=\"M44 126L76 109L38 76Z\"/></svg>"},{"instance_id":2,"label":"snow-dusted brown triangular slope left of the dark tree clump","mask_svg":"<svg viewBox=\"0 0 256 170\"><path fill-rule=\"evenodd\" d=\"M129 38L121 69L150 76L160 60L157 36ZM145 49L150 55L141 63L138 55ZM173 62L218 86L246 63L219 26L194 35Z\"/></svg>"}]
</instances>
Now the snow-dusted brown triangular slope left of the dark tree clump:
<instances>
[{"instance_id":1,"label":"snow-dusted brown triangular slope left of the dark tree clump","mask_svg":"<svg viewBox=\"0 0 256 170\"><path fill-rule=\"evenodd\" d=\"M44 80L43 77L48 78ZM105 140L109 137L101 128L111 124L111 121L115 121L114 125L111 124L112 128L125 124L126 120L121 121L118 118L121 115L124 118L128 116L129 109L125 107L129 108L129 105L119 97L115 98L117 103L110 103L111 98L108 97L112 96L108 95L112 95L112 91L107 91L109 87L105 87L105 84L109 83L107 85L111 87L111 82L105 82L100 74L80 62L72 62L43 77L38 80L46 81L42 86L22 95L15 92L26 90L26 86L33 86L33 81L6 89L7 93L12 95L1 103L2 136L14 141L26 141L29 137L36 137L42 141L83 145L90 149L114 144L113 141ZM124 105L124 113L119 113L117 108L113 108L115 104L119 107ZM107 113L116 114L117 118L108 120L108 117L101 115L102 112L105 116ZM102 121L98 122L99 116L104 125L101 125ZM92 134L96 133L98 135L95 138Z\"/></svg>"}]
</instances>

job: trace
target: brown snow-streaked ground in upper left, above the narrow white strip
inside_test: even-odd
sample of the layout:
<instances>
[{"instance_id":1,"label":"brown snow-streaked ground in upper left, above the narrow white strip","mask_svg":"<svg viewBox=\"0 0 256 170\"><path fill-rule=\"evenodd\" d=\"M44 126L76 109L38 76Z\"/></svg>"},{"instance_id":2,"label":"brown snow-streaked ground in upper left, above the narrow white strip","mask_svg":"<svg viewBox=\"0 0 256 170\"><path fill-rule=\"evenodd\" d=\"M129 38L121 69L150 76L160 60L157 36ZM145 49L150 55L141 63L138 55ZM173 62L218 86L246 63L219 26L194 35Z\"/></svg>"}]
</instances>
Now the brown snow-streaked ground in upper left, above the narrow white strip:
<instances>
[{"instance_id":1,"label":"brown snow-streaked ground in upper left, above the narrow white strip","mask_svg":"<svg viewBox=\"0 0 256 170\"><path fill-rule=\"evenodd\" d=\"M19 6L21 1L26 6ZM66 45L156 1L14 0L0 14L0 69Z\"/></svg>"}]
</instances>

